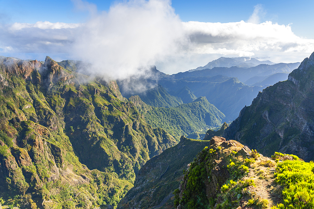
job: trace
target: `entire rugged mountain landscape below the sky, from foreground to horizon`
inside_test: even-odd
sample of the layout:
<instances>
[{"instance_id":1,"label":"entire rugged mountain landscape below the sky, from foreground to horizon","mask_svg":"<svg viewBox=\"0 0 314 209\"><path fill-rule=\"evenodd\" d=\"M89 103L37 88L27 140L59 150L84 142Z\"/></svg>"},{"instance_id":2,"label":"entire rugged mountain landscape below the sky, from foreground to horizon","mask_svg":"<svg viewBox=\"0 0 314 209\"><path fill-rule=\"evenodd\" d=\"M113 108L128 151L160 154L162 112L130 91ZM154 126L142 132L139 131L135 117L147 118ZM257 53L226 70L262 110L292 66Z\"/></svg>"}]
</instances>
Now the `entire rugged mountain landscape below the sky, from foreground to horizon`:
<instances>
[{"instance_id":1,"label":"entire rugged mountain landscape below the sky, from foreground to horizon","mask_svg":"<svg viewBox=\"0 0 314 209\"><path fill-rule=\"evenodd\" d=\"M123 80L90 77L89 67L0 57L0 206L276 209L314 201L300 199L311 196L302 185L312 172L314 53L300 66L219 68L225 75L152 67L129 79L151 86L139 94ZM271 86L257 93L262 85L228 73ZM180 136L200 131L204 140Z\"/></svg>"}]
</instances>

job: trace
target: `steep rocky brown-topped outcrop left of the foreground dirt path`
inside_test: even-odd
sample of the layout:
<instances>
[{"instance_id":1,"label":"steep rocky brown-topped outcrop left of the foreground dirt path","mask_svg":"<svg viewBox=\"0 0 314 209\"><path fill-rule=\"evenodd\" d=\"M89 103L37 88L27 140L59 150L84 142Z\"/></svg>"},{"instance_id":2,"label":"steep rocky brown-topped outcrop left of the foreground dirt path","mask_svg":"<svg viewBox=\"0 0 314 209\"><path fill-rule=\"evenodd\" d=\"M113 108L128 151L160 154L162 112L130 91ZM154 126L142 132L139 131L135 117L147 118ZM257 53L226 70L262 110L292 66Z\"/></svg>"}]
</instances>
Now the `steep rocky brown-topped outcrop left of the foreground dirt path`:
<instances>
[{"instance_id":1,"label":"steep rocky brown-topped outcrop left of the foreground dirt path","mask_svg":"<svg viewBox=\"0 0 314 209\"><path fill-rule=\"evenodd\" d=\"M206 205L222 203L222 186L230 179L241 179L247 174L248 167L241 165L241 160L250 157L251 152L237 141L226 141L218 136L211 138L210 146L196 156L174 192L175 207L206 208Z\"/></svg>"}]
</instances>

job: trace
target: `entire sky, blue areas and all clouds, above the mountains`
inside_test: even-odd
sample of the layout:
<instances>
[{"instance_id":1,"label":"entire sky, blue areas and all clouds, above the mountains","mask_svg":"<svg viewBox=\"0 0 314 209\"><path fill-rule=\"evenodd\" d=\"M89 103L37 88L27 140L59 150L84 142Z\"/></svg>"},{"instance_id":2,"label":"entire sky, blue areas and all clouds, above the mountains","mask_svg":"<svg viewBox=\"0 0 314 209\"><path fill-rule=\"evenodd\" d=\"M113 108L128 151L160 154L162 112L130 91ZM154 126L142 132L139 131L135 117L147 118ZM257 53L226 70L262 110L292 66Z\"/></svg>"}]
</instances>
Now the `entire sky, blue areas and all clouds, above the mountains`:
<instances>
[{"instance_id":1,"label":"entire sky, blue areas and all clouds, above the mountains","mask_svg":"<svg viewBox=\"0 0 314 209\"><path fill-rule=\"evenodd\" d=\"M123 78L224 57L301 62L314 51L314 1L0 0L0 55L93 63Z\"/></svg>"}]
</instances>

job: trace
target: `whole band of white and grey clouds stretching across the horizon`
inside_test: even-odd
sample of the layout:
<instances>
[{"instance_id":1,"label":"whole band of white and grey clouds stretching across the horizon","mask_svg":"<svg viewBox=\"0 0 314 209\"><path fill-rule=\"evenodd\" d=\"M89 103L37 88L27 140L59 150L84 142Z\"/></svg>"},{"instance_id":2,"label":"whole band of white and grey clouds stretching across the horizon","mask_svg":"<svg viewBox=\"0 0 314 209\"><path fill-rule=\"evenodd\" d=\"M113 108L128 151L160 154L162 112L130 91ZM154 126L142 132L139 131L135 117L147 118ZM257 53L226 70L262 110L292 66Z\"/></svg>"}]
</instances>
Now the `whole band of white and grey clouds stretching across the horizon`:
<instances>
[{"instance_id":1,"label":"whole band of white and grey clouds stretching across the horizon","mask_svg":"<svg viewBox=\"0 0 314 209\"><path fill-rule=\"evenodd\" d=\"M314 51L314 39L296 36L290 24L260 23L265 13L261 5L246 22L205 23L182 22L169 0L131 0L112 5L108 12L81 0L73 3L89 11L86 23L0 24L0 53L66 53L95 64L95 73L117 79L150 65L172 74L220 56L297 62Z\"/></svg>"}]
</instances>

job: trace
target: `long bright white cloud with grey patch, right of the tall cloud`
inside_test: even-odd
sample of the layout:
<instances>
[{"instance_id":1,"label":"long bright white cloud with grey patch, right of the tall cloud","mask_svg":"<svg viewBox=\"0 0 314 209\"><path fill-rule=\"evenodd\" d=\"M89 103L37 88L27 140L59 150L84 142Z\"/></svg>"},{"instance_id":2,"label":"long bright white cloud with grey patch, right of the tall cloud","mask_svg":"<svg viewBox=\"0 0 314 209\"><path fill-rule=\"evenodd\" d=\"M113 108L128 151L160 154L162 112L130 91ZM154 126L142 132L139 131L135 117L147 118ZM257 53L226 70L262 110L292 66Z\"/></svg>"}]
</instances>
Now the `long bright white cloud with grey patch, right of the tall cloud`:
<instances>
[{"instance_id":1,"label":"long bright white cloud with grey patch, right of the tall cloud","mask_svg":"<svg viewBox=\"0 0 314 209\"><path fill-rule=\"evenodd\" d=\"M246 23L183 23L187 36L194 44L195 53L211 53L211 49L252 51L307 52L314 50L313 39L302 39L291 31L290 25ZM198 46L198 47L195 47ZM251 52L251 53L250 53ZM222 53L223 54L223 53ZM227 53L226 53L227 54Z\"/></svg>"}]
</instances>

